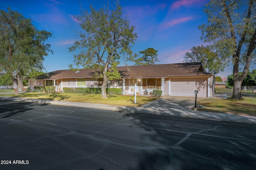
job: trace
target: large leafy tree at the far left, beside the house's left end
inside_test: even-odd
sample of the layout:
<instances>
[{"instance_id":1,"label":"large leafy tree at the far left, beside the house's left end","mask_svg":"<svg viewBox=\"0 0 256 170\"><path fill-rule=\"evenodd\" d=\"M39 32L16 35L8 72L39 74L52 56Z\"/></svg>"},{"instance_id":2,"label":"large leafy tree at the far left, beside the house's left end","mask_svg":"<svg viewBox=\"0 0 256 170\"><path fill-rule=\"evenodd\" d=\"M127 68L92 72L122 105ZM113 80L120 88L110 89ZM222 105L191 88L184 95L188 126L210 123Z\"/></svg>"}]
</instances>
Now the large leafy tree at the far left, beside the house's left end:
<instances>
[{"instance_id":1,"label":"large leafy tree at the far left, beside the house's left end","mask_svg":"<svg viewBox=\"0 0 256 170\"><path fill-rule=\"evenodd\" d=\"M38 31L22 14L10 8L0 10L0 68L11 76L16 95L18 82L21 84L30 70L43 69L44 56L51 51L44 41L51 36L48 31Z\"/></svg>"}]
</instances>

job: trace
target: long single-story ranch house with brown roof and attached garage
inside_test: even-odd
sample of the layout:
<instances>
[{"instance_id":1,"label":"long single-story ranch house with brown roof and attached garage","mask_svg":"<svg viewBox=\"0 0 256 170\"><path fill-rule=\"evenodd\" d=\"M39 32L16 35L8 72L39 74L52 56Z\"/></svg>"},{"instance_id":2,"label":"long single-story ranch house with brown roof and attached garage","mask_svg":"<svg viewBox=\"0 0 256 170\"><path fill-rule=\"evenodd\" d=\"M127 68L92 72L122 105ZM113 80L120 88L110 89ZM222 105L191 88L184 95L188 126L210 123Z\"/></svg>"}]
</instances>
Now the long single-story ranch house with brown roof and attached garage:
<instances>
[{"instance_id":1,"label":"long single-story ranch house with brown roof and attached garage","mask_svg":"<svg viewBox=\"0 0 256 170\"><path fill-rule=\"evenodd\" d=\"M124 95L134 94L135 84L138 94L152 94L162 90L162 95L212 97L214 76L204 72L201 63L155 64L141 66L119 66L120 80L108 82L110 88L122 88ZM93 78L93 70L56 70L29 80L29 86L56 86L60 92L64 87L100 87L103 78Z\"/></svg>"}]
</instances>

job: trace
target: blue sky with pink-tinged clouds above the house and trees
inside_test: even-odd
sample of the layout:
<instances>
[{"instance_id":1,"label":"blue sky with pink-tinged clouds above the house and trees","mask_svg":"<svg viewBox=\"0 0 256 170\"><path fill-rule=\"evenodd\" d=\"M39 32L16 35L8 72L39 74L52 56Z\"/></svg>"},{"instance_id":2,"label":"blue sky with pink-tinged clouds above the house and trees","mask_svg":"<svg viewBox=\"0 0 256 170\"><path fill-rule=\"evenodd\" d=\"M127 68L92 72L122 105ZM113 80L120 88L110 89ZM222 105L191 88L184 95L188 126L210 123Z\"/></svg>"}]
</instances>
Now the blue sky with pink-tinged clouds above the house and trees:
<instances>
[{"instance_id":1,"label":"blue sky with pink-tinged clouds above the house and trees","mask_svg":"<svg viewBox=\"0 0 256 170\"><path fill-rule=\"evenodd\" d=\"M115 0L109 0L113 4ZM207 23L202 6L209 0L120 0L124 14L128 15L130 25L135 26L138 39L132 47L138 53L149 47L158 50L156 64L182 63L184 54L193 46L206 45L200 40L199 25ZM78 39L76 31L81 31L74 16L80 14L90 4L100 8L108 0L1 0L0 9L22 13L30 18L39 30L51 31L54 38L48 39L53 55L45 57L44 67L47 72L69 69L73 63L73 54L68 52ZM124 62L120 61L120 66ZM134 65L133 62L128 65ZM232 74L232 65L226 67L221 76L226 80Z\"/></svg>"}]
</instances>

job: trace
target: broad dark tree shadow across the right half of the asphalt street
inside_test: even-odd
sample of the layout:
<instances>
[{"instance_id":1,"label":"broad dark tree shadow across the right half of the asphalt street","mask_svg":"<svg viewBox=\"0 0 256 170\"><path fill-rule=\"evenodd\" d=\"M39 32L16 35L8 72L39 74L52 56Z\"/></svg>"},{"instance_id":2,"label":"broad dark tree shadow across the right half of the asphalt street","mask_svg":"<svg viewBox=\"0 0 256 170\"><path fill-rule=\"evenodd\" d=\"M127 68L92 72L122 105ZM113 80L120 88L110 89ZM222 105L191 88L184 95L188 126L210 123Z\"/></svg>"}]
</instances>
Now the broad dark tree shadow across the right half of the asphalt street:
<instances>
[{"instance_id":1,"label":"broad dark tree shadow across the right half of the asphalt street","mask_svg":"<svg viewBox=\"0 0 256 170\"><path fill-rule=\"evenodd\" d=\"M204 120L204 126L201 126L200 119L136 113L126 113L124 116L129 117L130 120L133 118L134 125L141 129L137 131L146 132L141 133L140 138L143 139L142 143L149 144L140 150L137 167L129 170L200 169L200 167L223 169L227 165L230 169L241 169L244 162L248 169L255 167L253 163L256 157L253 151L255 149L248 148L256 147L256 143L240 141L239 138L246 139L246 135L241 137L239 132L229 133L229 126L242 128L243 126L239 123L234 125L233 122ZM133 125L130 127L133 128ZM221 129L220 133L225 132L225 135L221 134L220 139L217 140L220 141L220 144L208 137L208 135L218 136L218 131L215 131L217 128ZM248 133L252 132L253 130L248 131ZM197 141L198 137L203 139L202 142ZM233 139L228 139L228 137ZM238 140L235 140L236 138ZM246 145L251 147L245 147ZM212 153L212 155L208 153ZM247 155L245 156L244 153ZM241 160L241 156L245 157ZM229 158L236 160L236 163Z\"/></svg>"}]
</instances>

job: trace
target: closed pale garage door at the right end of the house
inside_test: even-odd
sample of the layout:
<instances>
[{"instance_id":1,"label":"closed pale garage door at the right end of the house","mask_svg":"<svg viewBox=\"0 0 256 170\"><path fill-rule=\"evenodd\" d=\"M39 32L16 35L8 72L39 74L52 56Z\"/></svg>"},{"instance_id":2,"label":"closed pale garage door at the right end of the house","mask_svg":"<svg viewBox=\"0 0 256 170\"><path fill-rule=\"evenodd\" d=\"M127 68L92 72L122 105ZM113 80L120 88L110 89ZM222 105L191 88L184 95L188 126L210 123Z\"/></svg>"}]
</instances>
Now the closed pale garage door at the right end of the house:
<instances>
[{"instance_id":1,"label":"closed pale garage door at the right end of the house","mask_svg":"<svg viewBox=\"0 0 256 170\"><path fill-rule=\"evenodd\" d=\"M207 78L171 78L172 96L197 96L207 97Z\"/></svg>"}]
</instances>

